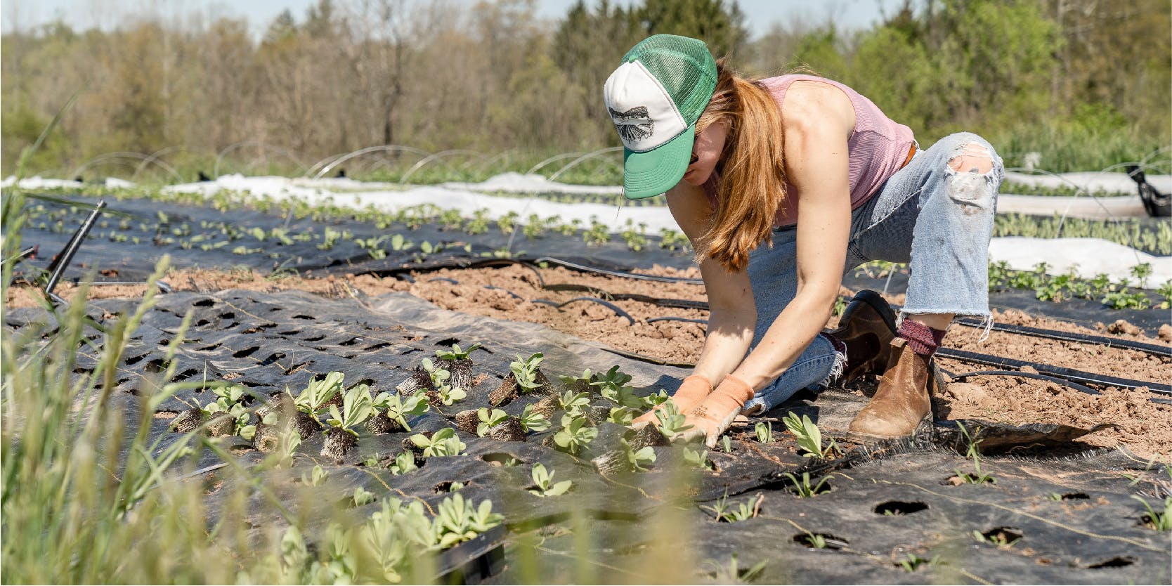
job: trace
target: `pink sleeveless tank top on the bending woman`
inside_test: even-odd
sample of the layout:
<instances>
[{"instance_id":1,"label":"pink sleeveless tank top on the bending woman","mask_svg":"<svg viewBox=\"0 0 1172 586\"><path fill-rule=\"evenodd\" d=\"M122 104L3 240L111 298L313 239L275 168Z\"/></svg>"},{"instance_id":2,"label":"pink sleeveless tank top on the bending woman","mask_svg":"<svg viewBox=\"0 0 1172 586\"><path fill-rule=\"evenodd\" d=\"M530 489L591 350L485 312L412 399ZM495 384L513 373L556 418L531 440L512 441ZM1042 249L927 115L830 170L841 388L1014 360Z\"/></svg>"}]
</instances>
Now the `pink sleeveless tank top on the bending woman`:
<instances>
[{"instance_id":1,"label":"pink sleeveless tank top on the bending woman","mask_svg":"<svg viewBox=\"0 0 1172 586\"><path fill-rule=\"evenodd\" d=\"M854 131L846 139L850 156L851 209L854 210L871 199L879 186L904 165L914 141L912 129L892 121L872 101L837 81L813 75L782 75L762 80L761 84L774 95L777 108L781 109L785 93L796 81L816 81L834 86L846 94L854 107ZM704 192L714 207L718 180L720 177L714 172L704 183ZM785 186L785 203L777 210L777 217L774 219L774 225L777 227L792 226L798 222L797 189L789 182Z\"/></svg>"}]
</instances>

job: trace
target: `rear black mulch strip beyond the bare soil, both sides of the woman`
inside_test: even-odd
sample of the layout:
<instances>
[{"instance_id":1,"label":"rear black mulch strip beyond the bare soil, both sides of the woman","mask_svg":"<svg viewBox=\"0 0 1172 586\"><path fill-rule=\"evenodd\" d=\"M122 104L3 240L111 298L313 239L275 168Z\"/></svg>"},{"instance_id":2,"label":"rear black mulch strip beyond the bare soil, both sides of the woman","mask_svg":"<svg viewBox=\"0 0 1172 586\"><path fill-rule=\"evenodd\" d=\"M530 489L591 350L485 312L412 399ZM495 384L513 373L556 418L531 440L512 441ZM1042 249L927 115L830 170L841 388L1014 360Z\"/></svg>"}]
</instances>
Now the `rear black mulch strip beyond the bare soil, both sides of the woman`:
<instances>
[{"instance_id":1,"label":"rear black mulch strip beyond the bare soil, both sides of the woman","mask_svg":"<svg viewBox=\"0 0 1172 586\"><path fill-rule=\"evenodd\" d=\"M96 202L95 198L77 197L76 199L88 203ZM64 209L57 204L43 205L50 211ZM130 229L118 230L117 226L122 218L111 213L105 214L94 227L73 264L66 270L67 280L81 279L94 272L97 273L96 280L144 280L163 254L171 255L172 266L183 268L247 267L263 274L287 272L304 277L346 273L386 275L411 270L482 263L485 259L495 258L509 244L510 239L510 234L502 233L495 223L490 223L489 232L469 236L461 231L444 231L431 224L414 229L395 224L380 230L370 223L355 220L322 223L309 218L295 219L289 216L248 209L220 212L212 207L176 205L148 199L110 200L108 207L114 211L132 213L134 218L129 219ZM166 223L159 223L159 212L166 217ZM34 272L29 266L47 267L52 257L63 248L73 231L81 225L86 216L87 211L81 207L69 213L62 220L60 232L54 232L54 223L48 223L49 225L45 230L36 227L39 223L35 220L26 226L22 231L22 245L26 247L39 246L40 250L36 259L25 261L23 272L26 274ZM102 222L105 223L104 226ZM218 229L202 229L200 223L212 225L229 223L238 227L243 236L222 247L204 251L202 250L203 245L224 241L227 237L220 234ZM138 227L139 224L146 224L149 229L142 231ZM386 257L380 259L372 258L370 253L355 244L354 240L339 239L331 250L320 250L318 244L321 243L320 237L326 226L338 231L349 231L354 238L362 239L402 234L414 246L406 251L395 251L391 250L388 239L382 245ZM286 229L289 236L311 233L314 239L284 245L279 244L274 237L267 236L261 241L248 233L253 227L260 227L266 233L271 233L274 227ZM180 232L190 230L190 233L176 236L172 230ZM127 240L114 241L110 239L110 232L117 232ZM182 246L183 240L190 241L192 237L200 233L207 234L209 240L190 244L188 248ZM138 244L135 244L132 238L138 238ZM173 241L164 244L163 239L168 238ZM661 248L659 246L660 239L655 236L648 236L647 239L646 247L635 252L629 250L619 236L612 236L612 240L601 246L586 246L580 232L573 236L546 232L539 238L529 239L518 230L513 236L511 252L513 258L519 259L557 257L588 266L618 271L629 271L636 267L649 268L654 265L674 268L693 266L690 253ZM424 241L442 244L445 247L438 252L423 254L420 248ZM465 245L470 248L465 250ZM243 250L233 252L239 247ZM18 273L20 272L21 265L18 265ZM843 285L852 289L870 288L892 294L905 293L907 291L907 270L895 272L891 279L886 277L871 278L863 271L852 271L844 277ZM1153 304L1160 301L1154 295L1149 297ZM1109 309L1098 301L1084 299L1056 304L1037 300L1031 291L992 292L989 306L997 309L1018 309L1031 315L1072 321L1089 327L1103 321L1111 322L1123 319L1138 326L1149 335L1154 335L1161 325L1172 321L1167 309Z\"/></svg>"}]
</instances>

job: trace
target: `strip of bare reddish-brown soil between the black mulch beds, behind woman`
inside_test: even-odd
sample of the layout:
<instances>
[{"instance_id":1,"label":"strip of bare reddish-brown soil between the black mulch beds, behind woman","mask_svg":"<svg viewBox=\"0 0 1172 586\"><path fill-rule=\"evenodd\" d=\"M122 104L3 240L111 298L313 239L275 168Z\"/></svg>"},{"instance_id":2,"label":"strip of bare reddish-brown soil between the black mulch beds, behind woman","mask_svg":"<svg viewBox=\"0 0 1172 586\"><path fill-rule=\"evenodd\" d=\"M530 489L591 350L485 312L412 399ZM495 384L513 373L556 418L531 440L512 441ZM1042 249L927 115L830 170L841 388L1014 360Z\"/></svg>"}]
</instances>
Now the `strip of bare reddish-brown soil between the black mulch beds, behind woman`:
<instances>
[{"instance_id":1,"label":"strip of bare reddish-brown soil between the black mulch beds, behind woman","mask_svg":"<svg viewBox=\"0 0 1172 586\"><path fill-rule=\"evenodd\" d=\"M676 271L655 267L641 271L648 274L699 278L695 268ZM268 280L252 271L172 271L166 281L176 289L214 292L244 288L260 292L287 289L307 291L326 297L377 295L390 291L407 291L445 309L498 319L543 323L611 347L676 363L696 360L704 338L703 323L686 321L654 321L670 316L703 320L706 311L666 308L653 304L614 300L611 302L631 315L632 321L615 314L604 305L573 301L581 297L641 294L656 299L707 300L701 285L672 284L647 280L609 278L582 274L566 268L533 270L512 265L499 268L441 270L410 275L415 282L374 275L345 275L325 279L289 277ZM556 285L578 285L595 291L550 291ZM492 288L489 288L492 287ZM69 298L75 293L63 285L57 293ZM93 298L138 297L139 287L94 287ZM844 288L844 294L853 292ZM902 295L888 301L900 302ZM561 308L540 302L568 302ZM5 305L33 305L27 287L9 288ZM1160 338L1147 338L1127 323L1112 320L1090 329L1016 311L994 312L1001 323L1059 329L1147 343L1167 343L1172 326L1161 328ZM832 318L827 326L837 322ZM945 346L983 354L1008 356L1078 370L1172 383L1172 360L1152 356L1139 350L1104 347L1091 343L1065 342L1002 332L992 332L980 340L976 328L954 326ZM941 367L953 373L984 370L987 367L955 360L939 360ZM863 390L859 390L863 393ZM1045 381L1015 376L975 376L966 383L954 383L945 396L935 397L939 415L948 418L975 417L1009 423L1064 423L1090 428L1112 423L1115 429L1103 430L1084 438L1091 445L1126 445L1137 456L1156 457L1172 462L1172 406L1150 401L1157 395L1140 389L1108 388L1102 395L1086 395Z\"/></svg>"}]
</instances>

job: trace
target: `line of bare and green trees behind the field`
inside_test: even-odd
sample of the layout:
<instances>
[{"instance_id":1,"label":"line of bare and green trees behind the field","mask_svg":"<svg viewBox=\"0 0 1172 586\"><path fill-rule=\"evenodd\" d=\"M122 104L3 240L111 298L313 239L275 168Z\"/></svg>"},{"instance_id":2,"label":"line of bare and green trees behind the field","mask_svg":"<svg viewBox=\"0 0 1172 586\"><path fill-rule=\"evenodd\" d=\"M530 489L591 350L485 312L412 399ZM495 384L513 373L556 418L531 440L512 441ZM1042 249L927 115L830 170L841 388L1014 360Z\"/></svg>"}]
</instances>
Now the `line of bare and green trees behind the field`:
<instances>
[{"instance_id":1,"label":"line of bare and green trees behind the field","mask_svg":"<svg viewBox=\"0 0 1172 586\"><path fill-rule=\"evenodd\" d=\"M1051 170L1170 158L1167 0L905 0L867 29L790 20L757 38L754 15L725 0L579 1L556 21L534 13L532 0L319 0L259 36L245 19L210 13L13 29L0 46L0 165L12 173L75 93L30 171L69 172L111 151L206 166L245 141L307 162L381 144L613 146L602 82L656 33L703 39L745 74L845 82L921 144L972 130L1007 164L1036 151Z\"/></svg>"}]
</instances>

